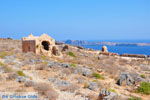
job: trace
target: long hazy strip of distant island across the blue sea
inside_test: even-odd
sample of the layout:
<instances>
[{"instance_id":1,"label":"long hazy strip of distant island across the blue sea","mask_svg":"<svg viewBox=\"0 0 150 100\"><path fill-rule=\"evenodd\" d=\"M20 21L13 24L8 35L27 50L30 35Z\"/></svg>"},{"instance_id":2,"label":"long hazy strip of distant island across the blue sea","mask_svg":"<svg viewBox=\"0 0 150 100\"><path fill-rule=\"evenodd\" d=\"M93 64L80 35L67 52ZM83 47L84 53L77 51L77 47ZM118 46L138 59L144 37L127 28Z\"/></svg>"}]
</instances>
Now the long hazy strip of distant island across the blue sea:
<instances>
[{"instance_id":1,"label":"long hazy strip of distant island across the blue sea","mask_svg":"<svg viewBox=\"0 0 150 100\"><path fill-rule=\"evenodd\" d=\"M71 45L109 45L109 46L150 46L150 43L120 43L120 42L100 42L100 41L85 41L85 40L65 40L61 41Z\"/></svg>"}]
</instances>

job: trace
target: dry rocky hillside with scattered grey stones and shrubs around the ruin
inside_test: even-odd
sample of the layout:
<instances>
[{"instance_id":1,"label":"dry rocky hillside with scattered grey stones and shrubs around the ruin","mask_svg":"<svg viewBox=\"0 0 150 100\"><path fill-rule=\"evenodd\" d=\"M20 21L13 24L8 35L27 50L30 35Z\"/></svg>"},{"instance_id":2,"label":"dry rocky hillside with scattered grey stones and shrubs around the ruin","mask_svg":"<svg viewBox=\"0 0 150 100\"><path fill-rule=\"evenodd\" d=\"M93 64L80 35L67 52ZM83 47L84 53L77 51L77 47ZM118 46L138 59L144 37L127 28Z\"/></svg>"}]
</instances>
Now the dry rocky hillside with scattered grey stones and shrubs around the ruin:
<instances>
[{"instance_id":1,"label":"dry rocky hillside with scattered grey stones and shrubs around the ruin","mask_svg":"<svg viewBox=\"0 0 150 100\"><path fill-rule=\"evenodd\" d=\"M0 40L0 92L38 92L40 100L150 100L150 59L108 56L60 44L63 57L22 53Z\"/></svg>"}]
</instances>

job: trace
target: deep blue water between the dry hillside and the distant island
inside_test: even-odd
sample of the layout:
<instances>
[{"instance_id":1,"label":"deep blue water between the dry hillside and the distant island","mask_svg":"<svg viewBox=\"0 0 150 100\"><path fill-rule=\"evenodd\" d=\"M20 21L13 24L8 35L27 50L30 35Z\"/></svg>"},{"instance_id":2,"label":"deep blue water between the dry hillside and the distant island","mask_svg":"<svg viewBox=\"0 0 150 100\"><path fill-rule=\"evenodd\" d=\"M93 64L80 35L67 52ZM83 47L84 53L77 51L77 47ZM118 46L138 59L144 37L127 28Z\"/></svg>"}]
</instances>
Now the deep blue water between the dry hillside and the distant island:
<instances>
[{"instance_id":1,"label":"deep blue water between the dry hillside and the distant island","mask_svg":"<svg viewBox=\"0 0 150 100\"><path fill-rule=\"evenodd\" d=\"M85 48L91 48L95 50L101 50L102 45L89 45L83 46ZM150 46L107 46L109 52L119 53L119 54L145 54L150 55Z\"/></svg>"}]
</instances>

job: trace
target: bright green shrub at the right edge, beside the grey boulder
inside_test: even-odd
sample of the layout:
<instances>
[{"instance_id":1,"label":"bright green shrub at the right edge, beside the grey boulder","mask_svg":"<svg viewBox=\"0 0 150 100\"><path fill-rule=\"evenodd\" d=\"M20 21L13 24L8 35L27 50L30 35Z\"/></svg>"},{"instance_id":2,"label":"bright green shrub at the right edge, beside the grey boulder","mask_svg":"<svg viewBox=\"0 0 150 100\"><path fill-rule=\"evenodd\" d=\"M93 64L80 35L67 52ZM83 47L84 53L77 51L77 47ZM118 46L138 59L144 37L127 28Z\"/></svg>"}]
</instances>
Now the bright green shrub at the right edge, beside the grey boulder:
<instances>
[{"instance_id":1,"label":"bright green shrub at the right edge, beside the grey boulder","mask_svg":"<svg viewBox=\"0 0 150 100\"><path fill-rule=\"evenodd\" d=\"M139 93L149 95L150 94L150 83L149 82L142 82L140 84L140 87L137 89L137 91Z\"/></svg>"}]
</instances>

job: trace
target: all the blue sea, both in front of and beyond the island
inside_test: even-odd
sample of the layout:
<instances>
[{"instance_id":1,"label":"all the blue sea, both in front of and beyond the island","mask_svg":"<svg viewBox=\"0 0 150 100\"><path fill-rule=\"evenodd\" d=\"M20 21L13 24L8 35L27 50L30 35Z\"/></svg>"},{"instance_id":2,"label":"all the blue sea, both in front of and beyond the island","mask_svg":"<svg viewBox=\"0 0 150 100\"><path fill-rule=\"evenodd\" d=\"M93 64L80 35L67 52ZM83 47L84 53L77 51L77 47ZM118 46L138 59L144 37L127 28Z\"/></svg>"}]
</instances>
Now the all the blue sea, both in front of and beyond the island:
<instances>
[{"instance_id":1,"label":"all the blue sea, both in front of and beyond the island","mask_svg":"<svg viewBox=\"0 0 150 100\"><path fill-rule=\"evenodd\" d=\"M117 43L150 43L150 40L126 40L126 41L105 41ZM103 45L83 45L84 48L91 48L94 50L101 50ZM106 45L109 52L118 54L144 54L150 55L150 46L109 46Z\"/></svg>"}]
</instances>

